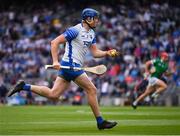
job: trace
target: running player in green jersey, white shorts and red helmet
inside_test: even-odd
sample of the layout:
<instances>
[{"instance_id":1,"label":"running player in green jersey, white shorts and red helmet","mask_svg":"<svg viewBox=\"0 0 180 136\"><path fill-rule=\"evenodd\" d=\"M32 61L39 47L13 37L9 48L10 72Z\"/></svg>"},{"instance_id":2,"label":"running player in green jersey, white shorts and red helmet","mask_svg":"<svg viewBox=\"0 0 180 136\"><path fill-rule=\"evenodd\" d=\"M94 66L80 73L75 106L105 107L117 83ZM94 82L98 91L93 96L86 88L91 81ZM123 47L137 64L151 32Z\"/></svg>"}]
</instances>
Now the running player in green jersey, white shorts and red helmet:
<instances>
[{"instance_id":1,"label":"running player in green jersey, white shorts and red helmet","mask_svg":"<svg viewBox=\"0 0 180 136\"><path fill-rule=\"evenodd\" d=\"M166 90L167 84L161 79L162 75L171 75L168 72L168 54L166 52L161 53L160 59L149 60L146 62L145 67L145 80L148 81L148 85L143 94L141 94L133 103L132 107L136 109L139 101L143 100L146 96L154 92L151 96L157 97L161 92ZM151 68L149 68L151 67Z\"/></svg>"}]
</instances>

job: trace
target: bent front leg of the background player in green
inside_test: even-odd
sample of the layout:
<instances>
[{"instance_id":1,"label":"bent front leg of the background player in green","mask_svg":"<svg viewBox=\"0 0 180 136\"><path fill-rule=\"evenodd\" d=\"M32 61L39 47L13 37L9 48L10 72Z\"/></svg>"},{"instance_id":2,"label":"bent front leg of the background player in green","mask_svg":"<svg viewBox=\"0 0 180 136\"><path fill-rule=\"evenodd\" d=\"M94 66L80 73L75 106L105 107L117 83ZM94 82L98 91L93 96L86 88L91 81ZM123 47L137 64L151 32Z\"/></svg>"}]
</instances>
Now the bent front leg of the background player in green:
<instances>
[{"instance_id":1,"label":"bent front leg of the background player in green","mask_svg":"<svg viewBox=\"0 0 180 136\"><path fill-rule=\"evenodd\" d=\"M157 89L152 94L153 98L157 98L161 92L163 92L163 91L165 91L167 89L167 84L164 81L160 80L160 79L157 79L156 86L157 86Z\"/></svg>"}]
</instances>

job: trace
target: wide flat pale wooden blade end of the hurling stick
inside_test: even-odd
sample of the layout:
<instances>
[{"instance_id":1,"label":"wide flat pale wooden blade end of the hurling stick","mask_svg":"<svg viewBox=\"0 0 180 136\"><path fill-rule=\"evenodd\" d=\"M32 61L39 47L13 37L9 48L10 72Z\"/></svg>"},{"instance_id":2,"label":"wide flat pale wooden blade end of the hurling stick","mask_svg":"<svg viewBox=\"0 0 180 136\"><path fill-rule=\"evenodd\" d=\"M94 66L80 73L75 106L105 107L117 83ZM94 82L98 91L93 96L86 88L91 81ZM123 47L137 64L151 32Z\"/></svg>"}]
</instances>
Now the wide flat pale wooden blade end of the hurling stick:
<instances>
[{"instance_id":1,"label":"wide flat pale wooden blade end of the hurling stick","mask_svg":"<svg viewBox=\"0 0 180 136\"><path fill-rule=\"evenodd\" d=\"M107 71L107 67L105 65L98 65L95 67L87 67L84 68L85 71L97 74L97 75L102 75Z\"/></svg>"}]
</instances>

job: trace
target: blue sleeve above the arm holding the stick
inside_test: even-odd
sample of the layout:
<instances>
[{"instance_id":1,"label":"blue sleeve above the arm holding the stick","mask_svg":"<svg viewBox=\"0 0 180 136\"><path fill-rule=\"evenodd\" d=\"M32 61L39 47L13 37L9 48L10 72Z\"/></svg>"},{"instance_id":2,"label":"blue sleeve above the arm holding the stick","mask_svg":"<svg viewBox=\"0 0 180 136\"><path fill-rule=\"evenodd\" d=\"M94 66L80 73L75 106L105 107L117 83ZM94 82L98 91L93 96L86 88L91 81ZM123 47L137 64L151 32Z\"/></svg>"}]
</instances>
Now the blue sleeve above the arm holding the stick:
<instances>
[{"instance_id":1,"label":"blue sleeve above the arm holding the stick","mask_svg":"<svg viewBox=\"0 0 180 136\"><path fill-rule=\"evenodd\" d=\"M71 27L71 28L68 28L64 33L63 35L65 36L66 40L67 41L72 41L73 39L75 39L78 35L78 30Z\"/></svg>"}]
</instances>

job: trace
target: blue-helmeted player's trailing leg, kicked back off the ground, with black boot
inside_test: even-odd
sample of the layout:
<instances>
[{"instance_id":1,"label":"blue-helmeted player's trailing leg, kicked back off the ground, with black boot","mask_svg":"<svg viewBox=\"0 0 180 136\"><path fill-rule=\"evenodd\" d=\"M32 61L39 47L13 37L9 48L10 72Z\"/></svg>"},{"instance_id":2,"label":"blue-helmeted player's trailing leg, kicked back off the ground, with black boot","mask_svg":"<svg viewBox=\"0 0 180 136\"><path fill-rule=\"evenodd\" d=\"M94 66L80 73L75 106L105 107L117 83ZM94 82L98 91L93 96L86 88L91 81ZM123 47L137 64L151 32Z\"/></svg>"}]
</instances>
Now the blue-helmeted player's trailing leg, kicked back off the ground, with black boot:
<instances>
[{"instance_id":1,"label":"blue-helmeted player's trailing leg, kicked back off the ground, with black boot","mask_svg":"<svg viewBox=\"0 0 180 136\"><path fill-rule=\"evenodd\" d=\"M47 97L52 100L58 100L59 96L67 89L69 82L61 77L57 77L52 89L46 86L30 85L26 84L24 81L19 82L15 88L9 93L8 96L13 95L21 90L32 91L41 96Z\"/></svg>"}]
</instances>

